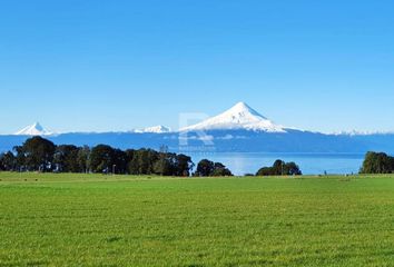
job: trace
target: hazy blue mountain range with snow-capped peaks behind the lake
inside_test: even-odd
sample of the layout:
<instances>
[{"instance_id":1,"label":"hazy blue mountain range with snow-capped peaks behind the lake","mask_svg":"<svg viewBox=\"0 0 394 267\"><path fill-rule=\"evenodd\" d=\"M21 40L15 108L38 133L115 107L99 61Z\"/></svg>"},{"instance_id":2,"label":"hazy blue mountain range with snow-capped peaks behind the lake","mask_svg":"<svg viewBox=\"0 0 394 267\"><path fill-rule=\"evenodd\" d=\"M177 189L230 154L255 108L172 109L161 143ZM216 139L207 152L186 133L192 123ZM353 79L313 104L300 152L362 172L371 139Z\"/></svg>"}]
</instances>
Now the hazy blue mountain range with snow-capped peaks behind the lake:
<instances>
[{"instance_id":1,"label":"hazy blue mountain range with snow-capped peaks behind the lake","mask_svg":"<svg viewBox=\"0 0 394 267\"><path fill-rule=\"evenodd\" d=\"M194 152L292 152L292 154L364 154L368 150L394 152L394 134L321 134L277 125L247 103L197 125L171 131L165 126L127 132L56 134L40 123L14 135L0 136L0 151L12 149L31 136L43 136L55 144L117 148L167 146L171 151Z\"/></svg>"}]
</instances>

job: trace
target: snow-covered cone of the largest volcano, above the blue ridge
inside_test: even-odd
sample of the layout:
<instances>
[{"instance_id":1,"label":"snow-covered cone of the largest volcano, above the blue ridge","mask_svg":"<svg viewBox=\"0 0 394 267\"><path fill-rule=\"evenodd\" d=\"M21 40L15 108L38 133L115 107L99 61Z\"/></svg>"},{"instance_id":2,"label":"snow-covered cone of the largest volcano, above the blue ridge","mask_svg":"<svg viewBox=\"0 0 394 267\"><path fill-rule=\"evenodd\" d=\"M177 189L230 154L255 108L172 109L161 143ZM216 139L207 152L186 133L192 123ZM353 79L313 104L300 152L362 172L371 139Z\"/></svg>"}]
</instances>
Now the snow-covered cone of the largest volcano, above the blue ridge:
<instances>
[{"instance_id":1,"label":"snow-covered cone of the largest volcano, above the blue ridge","mask_svg":"<svg viewBox=\"0 0 394 267\"><path fill-rule=\"evenodd\" d=\"M229 110L200 123L185 127L180 131L195 130L254 130L266 132L286 132L278 125L265 118L245 102L238 102Z\"/></svg>"}]
</instances>

